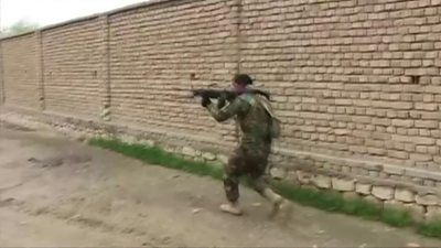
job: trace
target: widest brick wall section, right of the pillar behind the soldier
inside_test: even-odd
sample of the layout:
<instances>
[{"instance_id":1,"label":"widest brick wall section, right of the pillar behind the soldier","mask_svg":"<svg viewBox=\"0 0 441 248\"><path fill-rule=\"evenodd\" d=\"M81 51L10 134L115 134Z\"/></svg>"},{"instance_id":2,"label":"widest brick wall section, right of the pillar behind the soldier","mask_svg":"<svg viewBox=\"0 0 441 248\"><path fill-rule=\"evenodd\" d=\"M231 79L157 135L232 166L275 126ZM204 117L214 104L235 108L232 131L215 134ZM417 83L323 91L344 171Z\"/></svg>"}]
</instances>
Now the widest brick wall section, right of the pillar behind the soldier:
<instances>
[{"instance_id":1,"label":"widest brick wall section, right of the pillar behind the soldier","mask_svg":"<svg viewBox=\"0 0 441 248\"><path fill-rule=\"evenodd\" d=\"M241 68L277 95L283 147L440 171L440 1L243 4Z\"/></svg>"}]
</instances>

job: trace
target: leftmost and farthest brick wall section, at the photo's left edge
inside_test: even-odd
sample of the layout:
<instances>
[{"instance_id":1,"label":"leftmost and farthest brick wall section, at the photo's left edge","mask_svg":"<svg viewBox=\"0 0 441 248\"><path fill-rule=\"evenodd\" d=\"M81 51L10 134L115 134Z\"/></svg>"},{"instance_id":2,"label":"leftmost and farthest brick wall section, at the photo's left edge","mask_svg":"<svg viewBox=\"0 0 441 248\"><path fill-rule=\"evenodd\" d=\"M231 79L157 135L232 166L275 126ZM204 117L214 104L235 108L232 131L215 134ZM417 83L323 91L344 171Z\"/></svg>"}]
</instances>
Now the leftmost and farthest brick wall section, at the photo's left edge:
<instances>
[{"instance_id":1,"label":"leftmost and farthest brick wall section, at the photo's left edge","mask_svg":"<svg viewBox=\"0 0 441 248\"><path fill-rule=\"evenodd\" d=\"M6 103L39 109L35 34L4 40L1 47Z\"/></svg>"}]
</instances>

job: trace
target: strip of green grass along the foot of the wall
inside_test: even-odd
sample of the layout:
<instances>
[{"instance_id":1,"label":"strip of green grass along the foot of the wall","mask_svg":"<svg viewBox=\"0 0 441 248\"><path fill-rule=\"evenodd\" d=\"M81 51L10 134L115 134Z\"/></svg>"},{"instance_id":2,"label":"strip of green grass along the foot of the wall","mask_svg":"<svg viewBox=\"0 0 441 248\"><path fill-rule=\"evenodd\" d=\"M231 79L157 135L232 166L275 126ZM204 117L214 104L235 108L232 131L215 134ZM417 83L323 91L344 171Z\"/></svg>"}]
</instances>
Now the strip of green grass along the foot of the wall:
<instances>
[{"instance_id":1,"label":"strip of green grass along the foot of the wall","mask_svg":"<svg viewBox=\"0 0 441 248\"><path fill-rule=\"evenodd\" d=\"M158 147L129 144L117 139L94 138L89 144L141 160L148 164L161 165L201 176L220 180L223 171L205 162L186 160ZM412 227L418 234L441 239L441 222L417 222L408 212L381 208L362 198L344 197L335 191L318 191L298 187L282 181L271 181L275 190L286 198L299 204L332 213L342 213L364 219L377 220L394 227Z\"/></svg>"}]
</instances>

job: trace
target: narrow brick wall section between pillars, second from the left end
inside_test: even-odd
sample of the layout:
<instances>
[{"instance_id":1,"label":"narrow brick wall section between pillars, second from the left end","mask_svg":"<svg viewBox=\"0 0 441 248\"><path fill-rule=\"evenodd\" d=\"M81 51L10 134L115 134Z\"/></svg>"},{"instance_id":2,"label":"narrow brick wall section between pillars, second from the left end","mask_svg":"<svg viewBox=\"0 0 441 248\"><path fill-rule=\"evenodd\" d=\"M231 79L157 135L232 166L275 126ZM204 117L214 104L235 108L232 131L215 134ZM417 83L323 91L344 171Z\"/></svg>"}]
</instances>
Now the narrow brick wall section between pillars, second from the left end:
<instances>
[{"instance_id":1,"label":"narrow brick wall section between pillars, second from the left end","mask_svg":"<svg viewBox=\"0 0 441 248\"><path fill-rule=\"evenodd\" d=\"M93 18L42 31L47 110L99 118L100 29Z\"/></svg>"}]
</instances>

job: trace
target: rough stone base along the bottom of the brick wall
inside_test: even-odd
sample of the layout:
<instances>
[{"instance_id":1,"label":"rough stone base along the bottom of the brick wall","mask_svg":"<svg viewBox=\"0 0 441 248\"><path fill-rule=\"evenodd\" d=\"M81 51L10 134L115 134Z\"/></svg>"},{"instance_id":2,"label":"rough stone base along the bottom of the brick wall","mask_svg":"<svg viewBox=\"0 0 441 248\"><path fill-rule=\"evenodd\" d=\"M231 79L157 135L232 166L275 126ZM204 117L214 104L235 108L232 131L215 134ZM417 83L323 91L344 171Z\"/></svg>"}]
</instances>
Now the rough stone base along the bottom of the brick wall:
<instances>
[{"instance_id":1,"label":"rough stone base along the bottom of the brick wall","mask_svg":"<svg viewBox=\"0 0 441 248\"><path fill-rule=\"evenodd\" d=\"M159 145L164 150L181 154L196 161L213 164L226 164L229 150L225 143L219 143L204 137L185 136L164 130L142 129L136 126L109 123L100 120L64 117L57 114L42 114L33 110L2 107L0 120L21 127L56 131L67 138L84 141L96 136L117 138L128 143ZM271 157L272 166L269 173L272 177L283 180L302 187L315 190L333 190L343 193L348 198L365 198L381 207L392 207L408 211L416 219L441 220L441 194L433 187L418 186L407 182L392 182L387 179L345 173L345 171L325 170L316 165L310 158L276 154ZM324 161L326 163L326 161ZM291 164L290 164L291 163ZM342 164L348 171L354 165ZM366 170L366 169L365 169ZM368 174L378 170L368 170Z\"/></svg>"}]
</instances>

